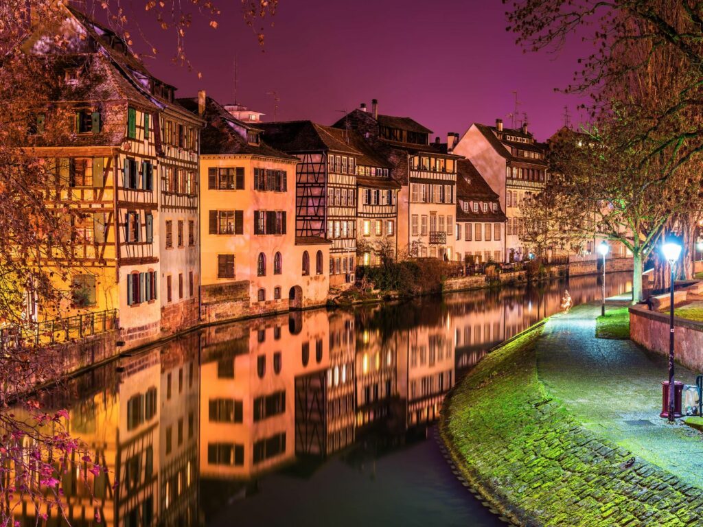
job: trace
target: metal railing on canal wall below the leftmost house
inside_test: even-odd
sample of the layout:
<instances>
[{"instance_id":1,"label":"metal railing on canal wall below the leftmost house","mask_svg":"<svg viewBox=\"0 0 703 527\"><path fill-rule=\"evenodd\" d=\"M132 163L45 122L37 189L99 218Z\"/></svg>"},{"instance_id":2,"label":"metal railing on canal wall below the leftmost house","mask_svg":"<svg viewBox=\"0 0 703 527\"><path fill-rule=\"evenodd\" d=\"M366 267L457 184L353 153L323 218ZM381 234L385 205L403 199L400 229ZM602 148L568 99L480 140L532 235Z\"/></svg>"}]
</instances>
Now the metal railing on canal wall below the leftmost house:
<instances>
[{"instance_id":1,"label":"metal railing on canal wall below the leftmost house","mask_svg":"<svg viewBox=\"0 0 703 527\"><path fill-rule=\"evenodd\" d=\"M117 329L117 309L0 328L0 351L11 343L58 344Z\"/></svg>"}]
</instances>

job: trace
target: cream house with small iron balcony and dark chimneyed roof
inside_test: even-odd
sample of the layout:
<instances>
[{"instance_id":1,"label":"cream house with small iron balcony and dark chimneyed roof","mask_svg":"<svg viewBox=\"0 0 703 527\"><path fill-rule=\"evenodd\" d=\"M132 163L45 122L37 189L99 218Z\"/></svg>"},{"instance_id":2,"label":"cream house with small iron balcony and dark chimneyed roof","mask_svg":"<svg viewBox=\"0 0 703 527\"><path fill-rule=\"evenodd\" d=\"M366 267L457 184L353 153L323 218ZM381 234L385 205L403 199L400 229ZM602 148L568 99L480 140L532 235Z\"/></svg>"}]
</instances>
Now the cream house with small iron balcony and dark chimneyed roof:
<instances>
[{"instance_id":1,"label":"cream house with small iron balcony and dark chimneyed roof","mask_svg":"<svg viewBox=\"0 0 703 527\"><path fill-rule=\"evenodd\" d=\"M430 144L432 131L410 117L378 113L373 100L333 126L355 129L392 165L401 188L398 198L398 250L409 256L453 259L456 160Z\"/></svg>"}]
</instances>

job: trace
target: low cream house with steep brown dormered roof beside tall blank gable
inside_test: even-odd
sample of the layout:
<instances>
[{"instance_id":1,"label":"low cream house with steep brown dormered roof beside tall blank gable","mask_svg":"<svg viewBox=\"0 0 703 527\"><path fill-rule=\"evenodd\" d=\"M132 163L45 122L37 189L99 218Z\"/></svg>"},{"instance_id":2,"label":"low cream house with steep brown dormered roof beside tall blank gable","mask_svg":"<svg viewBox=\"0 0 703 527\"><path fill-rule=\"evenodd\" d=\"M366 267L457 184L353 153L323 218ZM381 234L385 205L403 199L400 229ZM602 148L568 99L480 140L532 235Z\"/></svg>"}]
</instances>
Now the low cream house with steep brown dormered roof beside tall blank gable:
<instances>
[{"instance_id":1,"label":"low cream house with steep brown dormered roof beside tall blank gable","mask_svg":"<svg viewBox=\"0 0 703 527\"><path fill-rule=\"evenodd\" d=\"M456 260L502 262L505 214L498 198L469 160L459 160L456 178Z\"/></svg>"}]
</instances>

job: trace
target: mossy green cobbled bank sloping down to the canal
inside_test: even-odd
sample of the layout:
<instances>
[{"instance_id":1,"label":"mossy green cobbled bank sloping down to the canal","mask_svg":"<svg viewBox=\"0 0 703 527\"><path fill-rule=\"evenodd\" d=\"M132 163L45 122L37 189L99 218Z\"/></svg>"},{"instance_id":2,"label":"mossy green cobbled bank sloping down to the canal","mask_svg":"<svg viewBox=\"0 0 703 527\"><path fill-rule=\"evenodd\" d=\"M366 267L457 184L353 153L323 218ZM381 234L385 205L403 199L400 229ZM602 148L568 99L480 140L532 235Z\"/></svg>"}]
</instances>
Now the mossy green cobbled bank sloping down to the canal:
<instances>
[{"instance_id":1,"label":"mossy green cobbled bank sloping down to the canal","mask_svg":"<svg viewBox=\"0 0 703 527\"><path fill-rule=\"evenodd\" d=\"M626 466L632 453L584 429L550 395L536 367L546 320L491 349L444 399L439 434L460 477L519 526L694 521L699 489L639 458Z\"/></svg>"}]
</instances>

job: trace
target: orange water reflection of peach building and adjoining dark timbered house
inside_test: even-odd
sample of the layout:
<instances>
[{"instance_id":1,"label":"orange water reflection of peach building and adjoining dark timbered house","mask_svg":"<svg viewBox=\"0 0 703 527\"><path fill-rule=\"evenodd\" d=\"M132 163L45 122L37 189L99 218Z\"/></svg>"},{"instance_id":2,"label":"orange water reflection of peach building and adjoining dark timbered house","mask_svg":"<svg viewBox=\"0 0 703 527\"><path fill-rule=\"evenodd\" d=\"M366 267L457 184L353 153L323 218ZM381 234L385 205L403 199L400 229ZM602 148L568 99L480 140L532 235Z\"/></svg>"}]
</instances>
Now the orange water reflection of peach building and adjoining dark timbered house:
<instances>
[{"instance_id":1,"label":"orange water reflection of peach building and adjoining dark timbered house","mask_svg":"<svg viewBox=\"0 0 703 527\"><path fill-rule=\"evenodd\" d=\"M326 311L207 329L201 474L248 479L352 443L353 332L350 315Z\"/></svg>"}]
</instances>

